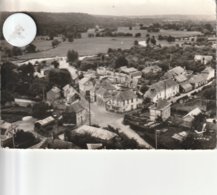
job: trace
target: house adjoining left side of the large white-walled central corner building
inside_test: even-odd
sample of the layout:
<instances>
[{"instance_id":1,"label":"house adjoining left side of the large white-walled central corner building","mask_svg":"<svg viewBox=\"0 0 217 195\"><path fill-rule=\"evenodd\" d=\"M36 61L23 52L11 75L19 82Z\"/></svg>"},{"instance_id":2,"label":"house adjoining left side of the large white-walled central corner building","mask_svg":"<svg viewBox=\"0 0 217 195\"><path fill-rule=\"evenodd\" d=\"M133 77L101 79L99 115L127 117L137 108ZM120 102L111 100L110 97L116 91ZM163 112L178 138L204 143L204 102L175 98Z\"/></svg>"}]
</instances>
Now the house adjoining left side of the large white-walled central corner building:
<instances>
[{"instance_id":1,"label":"house adjoining left side of the large white-walled central corner building","mask_svg":"<svg viewBox=\"0 0 217 195\"><path fill-rule=\"evenodd\" d=\"M116 88L111 84L109 80L101 80L96 85L96 102L98 105L105 105L105 103L112 97L116 92Z\"/></svg>"}]
</instances>

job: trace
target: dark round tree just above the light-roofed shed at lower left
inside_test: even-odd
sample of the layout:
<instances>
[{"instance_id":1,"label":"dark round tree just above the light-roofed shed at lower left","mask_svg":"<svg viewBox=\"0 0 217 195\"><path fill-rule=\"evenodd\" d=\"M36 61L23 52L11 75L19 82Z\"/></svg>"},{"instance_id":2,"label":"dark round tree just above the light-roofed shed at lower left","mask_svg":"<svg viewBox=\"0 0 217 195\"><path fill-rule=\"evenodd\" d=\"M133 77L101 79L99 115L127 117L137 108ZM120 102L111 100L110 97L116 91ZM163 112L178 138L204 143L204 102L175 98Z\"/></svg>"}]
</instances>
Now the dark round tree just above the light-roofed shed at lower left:
<instances>
[{"instance_id":1,"label":"dark round tree just above the light-roofed shed at lower left","mask_svg":"<svg viewBox=\"0 0 217 195\"><path fill-rule=\"evenodd\" d=\"M39 102L32 107L32 116L37 119L43 119L49 116L49 106L45 102Z\"/></svg>"}]
</instances>

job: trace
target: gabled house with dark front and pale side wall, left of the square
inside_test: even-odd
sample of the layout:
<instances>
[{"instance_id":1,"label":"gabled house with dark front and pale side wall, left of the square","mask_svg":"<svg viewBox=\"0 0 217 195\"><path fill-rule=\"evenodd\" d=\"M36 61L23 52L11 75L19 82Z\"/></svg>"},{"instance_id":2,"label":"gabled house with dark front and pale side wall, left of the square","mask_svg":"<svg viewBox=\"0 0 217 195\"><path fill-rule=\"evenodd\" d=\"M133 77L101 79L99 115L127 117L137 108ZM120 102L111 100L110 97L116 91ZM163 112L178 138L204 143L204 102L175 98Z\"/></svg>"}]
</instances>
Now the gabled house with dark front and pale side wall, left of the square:
<instances>
[{"instance_id":1,"label":"gabled house with dark front and pale side wall, left of the square","mask_svg":"<svg viewBox=\"0 0 217 195\"><path fill-rule=\"evenodd\" d=\"M68 106L63 112L63 124L74 124L80 126L87 119L87 111L80 102L75 102Z\"/></svg>"}]
</instances>

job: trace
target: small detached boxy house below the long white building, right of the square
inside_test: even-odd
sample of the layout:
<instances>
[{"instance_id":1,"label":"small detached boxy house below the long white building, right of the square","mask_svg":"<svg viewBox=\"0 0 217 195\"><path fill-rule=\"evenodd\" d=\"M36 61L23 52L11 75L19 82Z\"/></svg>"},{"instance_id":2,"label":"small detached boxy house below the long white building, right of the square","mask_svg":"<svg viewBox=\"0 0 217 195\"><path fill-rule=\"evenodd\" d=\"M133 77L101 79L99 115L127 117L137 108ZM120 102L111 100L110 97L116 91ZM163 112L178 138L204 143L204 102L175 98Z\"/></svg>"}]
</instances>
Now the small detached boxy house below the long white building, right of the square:
<instances>
[{"instance_id":1,"label":"small detached boxy house below the long white building, right of the square","mask_svg":"<svg viewBox=\"0 0 217 195\"><path fill-rule=\"evenodd\" d=\"M156 121L159 117L165 121L171 116L171 103L160 99L149 107L150 120Z\"/></svg>"}]
</instances>

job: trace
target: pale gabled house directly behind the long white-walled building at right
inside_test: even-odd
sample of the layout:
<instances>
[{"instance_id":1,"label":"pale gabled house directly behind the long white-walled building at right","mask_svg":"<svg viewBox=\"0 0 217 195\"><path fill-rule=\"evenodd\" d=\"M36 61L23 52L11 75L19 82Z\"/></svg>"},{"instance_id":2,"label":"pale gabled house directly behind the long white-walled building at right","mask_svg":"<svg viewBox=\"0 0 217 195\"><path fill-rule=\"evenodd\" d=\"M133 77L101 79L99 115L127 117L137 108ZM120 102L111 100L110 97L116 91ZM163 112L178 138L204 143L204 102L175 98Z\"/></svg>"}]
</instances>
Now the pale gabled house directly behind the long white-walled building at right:
<instances>
[{"instance_id":1,"label":"pale gabled house directly behind the long white-walled building at right","mask_svg":"<svg viewBox=\"0 0 217 195\"><path fill-rule=\"evenodd\" d=\"M168 79L174 79L178 83L184 82L187 80L186 71L181 66L177 66L168 70L164 76Z\"/></svg>"}]
</instances>

